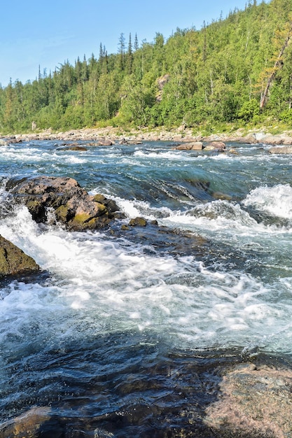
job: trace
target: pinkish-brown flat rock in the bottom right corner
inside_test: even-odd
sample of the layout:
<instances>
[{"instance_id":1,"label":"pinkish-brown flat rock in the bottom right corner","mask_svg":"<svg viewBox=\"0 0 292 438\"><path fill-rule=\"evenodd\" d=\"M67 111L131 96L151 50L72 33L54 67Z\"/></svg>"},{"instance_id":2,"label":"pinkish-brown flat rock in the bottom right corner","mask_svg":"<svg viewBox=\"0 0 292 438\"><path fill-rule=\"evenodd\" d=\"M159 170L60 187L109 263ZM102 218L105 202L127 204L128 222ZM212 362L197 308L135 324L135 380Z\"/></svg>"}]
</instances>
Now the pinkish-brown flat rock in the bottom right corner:
<instances>
[{"instance_id":1,"label":"pinkish-brown flat rock in the bottom right corner","mask_svg":"<svg viewBox=\"0 0 292 438\"><path fill-rule=\"evenodd\" d=\"M223 376L220 390L204 420L218 436L291 437L291 370L237 365Z\"/></svg>"}]
</instances>

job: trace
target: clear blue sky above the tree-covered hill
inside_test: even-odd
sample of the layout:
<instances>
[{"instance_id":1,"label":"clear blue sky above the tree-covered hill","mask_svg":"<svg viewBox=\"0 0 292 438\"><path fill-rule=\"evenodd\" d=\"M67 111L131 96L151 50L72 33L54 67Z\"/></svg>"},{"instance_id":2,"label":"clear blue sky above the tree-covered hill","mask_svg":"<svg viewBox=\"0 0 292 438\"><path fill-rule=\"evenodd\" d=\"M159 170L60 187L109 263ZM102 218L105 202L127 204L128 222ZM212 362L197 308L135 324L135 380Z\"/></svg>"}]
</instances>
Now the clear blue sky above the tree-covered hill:
<instances>
[{"instance_id":1,"label":"clear blue sky above the tree-covered hill","mask_svg":"<svg viewBox=\"0 0 292 438\"><path fill-rule=\"evenodd\" d=\"M168 38L176 27L201 29L205 21L244 9L248 0L11 0L1 5L0 84L34 80L43 69L79 56L99 55L99 44L116 53L123 32L125 41L137 33L149 43L160 32Z\"/></svg>"}]
</instances>

